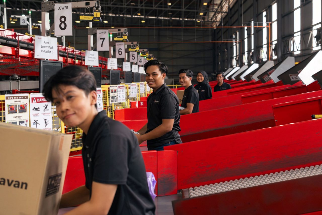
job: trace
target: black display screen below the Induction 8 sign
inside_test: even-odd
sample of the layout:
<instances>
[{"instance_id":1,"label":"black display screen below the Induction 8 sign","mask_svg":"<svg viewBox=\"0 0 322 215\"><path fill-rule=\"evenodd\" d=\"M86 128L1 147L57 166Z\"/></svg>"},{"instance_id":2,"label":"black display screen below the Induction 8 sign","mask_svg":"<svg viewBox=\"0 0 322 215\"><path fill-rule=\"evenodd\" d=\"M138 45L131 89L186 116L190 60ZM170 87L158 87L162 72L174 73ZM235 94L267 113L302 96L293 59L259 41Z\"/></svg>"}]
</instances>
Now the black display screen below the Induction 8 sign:
<instances>
[{"instance_id":1,"label":"black display screen below the Induction 8 sign","mask_svg":"<svg viewBox=\"0 0 322 215\"><path fill-rule=\"evenodd\" d=\"M59 70L62 69L61 61L47 61L40 60L39 61L39 92L43 92L43 86Z\"/></svg>"}]
</instances>

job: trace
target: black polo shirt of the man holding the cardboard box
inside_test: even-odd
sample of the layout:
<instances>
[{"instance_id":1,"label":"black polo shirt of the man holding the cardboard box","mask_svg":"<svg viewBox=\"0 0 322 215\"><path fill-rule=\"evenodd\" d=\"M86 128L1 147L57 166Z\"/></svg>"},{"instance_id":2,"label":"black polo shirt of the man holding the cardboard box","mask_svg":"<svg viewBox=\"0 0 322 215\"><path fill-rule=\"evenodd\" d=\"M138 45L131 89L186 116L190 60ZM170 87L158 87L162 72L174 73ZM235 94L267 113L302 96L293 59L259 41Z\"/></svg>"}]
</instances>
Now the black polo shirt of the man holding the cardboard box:
<instances>
[{"instance_id":1,"label":"black polo shirt of the man holding the cardboard box","mask_svg":"<svg viewBox=\"0 0 322 215\"><path fill-rule=\"evenodd\" d=\"M83 133L85 186L92 182L117 184L108 214L154 214L142 153L134 134L121 122L99 112Z\"/></svg>"}]
</instances>

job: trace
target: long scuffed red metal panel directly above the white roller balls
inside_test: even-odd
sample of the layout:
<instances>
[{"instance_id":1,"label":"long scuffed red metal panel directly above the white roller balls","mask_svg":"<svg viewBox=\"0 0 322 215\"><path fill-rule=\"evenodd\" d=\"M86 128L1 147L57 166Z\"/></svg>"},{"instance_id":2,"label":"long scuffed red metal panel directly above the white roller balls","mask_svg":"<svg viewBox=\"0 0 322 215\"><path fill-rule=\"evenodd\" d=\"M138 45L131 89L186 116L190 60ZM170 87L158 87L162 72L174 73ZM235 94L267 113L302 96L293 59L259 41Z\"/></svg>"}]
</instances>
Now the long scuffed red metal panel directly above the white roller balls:
<instances>
[{"instance_id":1,"label":"long scuffed red metal panel directly above the white roller balls","mask_svg":"<svg viewBox=\"0 0 322 215\"><path fill-rule=\"evenodd\" d=\"M316 119L166 146L165 150L178 151L178 189L185 189L321 164L321 127L322 119Z\"/></svg>"}]
</instances>

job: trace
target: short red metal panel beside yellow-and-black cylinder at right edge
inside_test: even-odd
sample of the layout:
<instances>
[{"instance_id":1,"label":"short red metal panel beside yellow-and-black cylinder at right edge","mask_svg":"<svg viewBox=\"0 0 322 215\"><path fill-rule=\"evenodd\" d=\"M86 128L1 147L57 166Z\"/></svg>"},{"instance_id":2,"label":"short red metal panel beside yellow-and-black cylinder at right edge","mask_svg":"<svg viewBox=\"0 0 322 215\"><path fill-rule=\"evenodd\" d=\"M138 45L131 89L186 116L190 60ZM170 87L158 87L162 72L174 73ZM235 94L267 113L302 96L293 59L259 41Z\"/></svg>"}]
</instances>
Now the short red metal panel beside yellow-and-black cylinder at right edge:
<instances>
[{"instance_id":1,"label":"short red metal panel beside yellow-and-black cylinder at right edge","mask_svg":"<svg viewBox=\"0 0 322 215\"><path fill-rule=\"evenodd\" d=\"M312 114L322 114L322 96L272 105L276 125L311 120Z\"/></svg>"}]
</instances>

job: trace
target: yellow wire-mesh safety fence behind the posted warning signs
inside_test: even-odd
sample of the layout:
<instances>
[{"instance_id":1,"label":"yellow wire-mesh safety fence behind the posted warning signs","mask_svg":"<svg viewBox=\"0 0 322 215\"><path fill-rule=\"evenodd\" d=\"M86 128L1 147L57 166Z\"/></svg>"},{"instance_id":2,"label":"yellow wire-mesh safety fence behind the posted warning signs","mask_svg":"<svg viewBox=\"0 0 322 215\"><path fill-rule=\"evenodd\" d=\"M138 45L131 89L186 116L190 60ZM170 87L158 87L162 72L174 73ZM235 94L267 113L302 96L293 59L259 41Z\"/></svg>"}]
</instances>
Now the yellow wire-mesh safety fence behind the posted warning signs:
<instances>
[{"instance_id":1,"label":"yellow wire-mesh safety fence behind the posted warning signs","mask_svg":"<svg viewBox=\"0 0 322 215\"><path fill-rule=\"evenodd\" d=\"M147 94L152 92L152 89L147 91L147 83L145 82L144 85L141 83L137 84L137 95L136 97L129 97L130 93L130 85L124 84L125 86L125 102L122 103L110 103L109 97L109 88L110 85L102 85L102 93L103 93L103 110L107 112L107 116L114 119L114 111L116 109L121 108L129 108L130 101L139 101L141 97L147 96ZM144 93L141 90L141 87L144 87ZM0 95L0 122L5 122L5 95ZM68 127L66 126L57 116L56 113L56 106L52 104L52 130L55 132L67 133L72 134L72 143L71 143L71 150L70 151L77 151L81 150L83 147L82 143L82 134L83 131L79 127Z\"/></svg>"}]
</instances>

